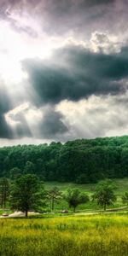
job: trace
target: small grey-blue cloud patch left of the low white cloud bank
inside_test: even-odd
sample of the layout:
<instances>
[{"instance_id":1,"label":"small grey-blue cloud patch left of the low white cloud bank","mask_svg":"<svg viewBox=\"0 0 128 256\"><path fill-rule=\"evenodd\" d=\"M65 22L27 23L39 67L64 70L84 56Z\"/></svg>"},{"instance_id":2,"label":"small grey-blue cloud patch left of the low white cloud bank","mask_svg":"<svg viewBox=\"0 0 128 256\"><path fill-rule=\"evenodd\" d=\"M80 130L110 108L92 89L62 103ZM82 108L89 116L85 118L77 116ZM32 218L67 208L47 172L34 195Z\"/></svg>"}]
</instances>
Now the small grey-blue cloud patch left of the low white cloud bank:
<instances>
[{"instance_id":1,"label":"small grey-blue cloud patch left of the low white cloud bank","mask_svg":"<svg viewBox=\"0 0 128 256\"><path fill-rule=\"evenodd\" d=\"M40 137L54 138L59 134L64 134L68 131L67 126L62 121L63 115L49 107L44 112L44 119L39 125Z\"/></svg>"}]
</instances>

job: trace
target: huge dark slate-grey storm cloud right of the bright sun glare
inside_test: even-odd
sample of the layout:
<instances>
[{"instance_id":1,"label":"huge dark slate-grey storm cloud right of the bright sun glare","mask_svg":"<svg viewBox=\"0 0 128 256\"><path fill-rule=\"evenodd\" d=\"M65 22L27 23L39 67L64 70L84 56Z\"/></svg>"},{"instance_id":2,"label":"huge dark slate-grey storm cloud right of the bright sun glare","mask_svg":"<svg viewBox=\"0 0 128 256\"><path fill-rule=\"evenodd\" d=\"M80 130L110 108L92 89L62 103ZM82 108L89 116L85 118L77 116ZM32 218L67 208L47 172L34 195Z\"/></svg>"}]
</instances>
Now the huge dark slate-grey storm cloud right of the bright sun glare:
<instances>
[{"instance_id":1,"label":"huge dark slate-grey storm cloud right of the bright sun glare","mask_svg":"<svg viewBox=\"0 0 128 256\"><path fill-rule=\"evenodd\" d=\"M128 49L118 54L93 53L81 46L55 51L49 61L26 60L23 66L35 91L37 105L74 102L92 95L125 92L128 77Z\"/></svg>"}]
</instances>

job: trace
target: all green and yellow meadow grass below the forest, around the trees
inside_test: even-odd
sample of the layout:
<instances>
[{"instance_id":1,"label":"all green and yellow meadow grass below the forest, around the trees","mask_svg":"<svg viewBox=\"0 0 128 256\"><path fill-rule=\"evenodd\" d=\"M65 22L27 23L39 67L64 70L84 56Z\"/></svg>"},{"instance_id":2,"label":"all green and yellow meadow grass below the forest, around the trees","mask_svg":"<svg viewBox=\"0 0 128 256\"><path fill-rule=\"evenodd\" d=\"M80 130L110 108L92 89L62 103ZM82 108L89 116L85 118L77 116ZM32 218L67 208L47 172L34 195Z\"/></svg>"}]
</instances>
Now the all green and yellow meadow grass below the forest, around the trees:
<instances>
[{"instance_id":1,"label":"all green and yellow meadow grass below the forest, around the trees","mask_svg":"<svg viewBox=\"0 0 128 256\"><path fill-rule=\"evenodd\" d=\"M0 218L0 256L127 256L128 208L121 196L127 191L128 178L114 182L117 201L110 208L121 207L120 212L102 213L102 208L90 201L73 213L61 199L55 202L55 213L48 213L46 207L47 213L29 218ZM62 193L79 189L90 197L96 188L90 183L44 183L45 189L55 186ZM63 209L69 212L62 214Z\"/></svg>"}]
</instances>

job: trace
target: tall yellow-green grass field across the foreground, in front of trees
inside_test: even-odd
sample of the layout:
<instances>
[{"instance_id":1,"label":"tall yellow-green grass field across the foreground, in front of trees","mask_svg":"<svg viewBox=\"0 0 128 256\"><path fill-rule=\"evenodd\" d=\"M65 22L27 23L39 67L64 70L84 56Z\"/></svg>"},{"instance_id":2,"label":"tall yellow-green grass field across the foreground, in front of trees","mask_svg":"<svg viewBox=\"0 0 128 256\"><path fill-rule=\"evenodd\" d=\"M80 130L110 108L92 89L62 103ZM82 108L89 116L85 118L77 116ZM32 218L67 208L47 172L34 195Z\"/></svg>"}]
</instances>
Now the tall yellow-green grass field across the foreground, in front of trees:
<instances>
[{"instance_id":1,"label":"tall yellow-green grass field across the foreground, in front of trees","mask_svg":"<svg viewBox=\"0 0 128 256\"><path fill-rule=\"evenodd\" d=\"M0 219L3 256L127 256L128 215Z\"/></svg>"}]
</instances>

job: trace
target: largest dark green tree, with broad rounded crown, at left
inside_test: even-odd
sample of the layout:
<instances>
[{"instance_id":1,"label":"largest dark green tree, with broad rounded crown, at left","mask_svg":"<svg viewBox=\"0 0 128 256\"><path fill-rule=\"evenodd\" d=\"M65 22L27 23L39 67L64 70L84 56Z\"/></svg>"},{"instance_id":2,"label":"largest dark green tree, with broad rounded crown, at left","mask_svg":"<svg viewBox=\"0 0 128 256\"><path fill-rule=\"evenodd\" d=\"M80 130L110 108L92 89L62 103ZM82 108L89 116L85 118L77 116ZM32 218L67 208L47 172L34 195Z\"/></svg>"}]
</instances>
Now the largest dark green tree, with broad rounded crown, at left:
<instances>
[{"instance_id":1,"label":"largest dark green tree, with broad rounded crown, at left","mask_svg":"<svg viewBox=\"0 0 128 256\"><path fill-rule=\"evenodd\" d=\"M41 183L34 174L26 174L18 177L11 190L11 206L22 212L37 210L41 205Z\"/></svg>"}]
</instances>

